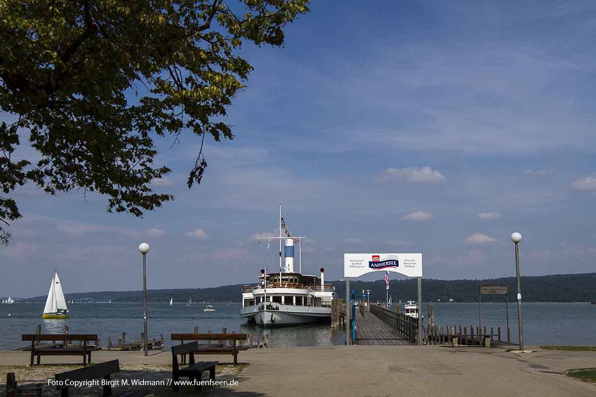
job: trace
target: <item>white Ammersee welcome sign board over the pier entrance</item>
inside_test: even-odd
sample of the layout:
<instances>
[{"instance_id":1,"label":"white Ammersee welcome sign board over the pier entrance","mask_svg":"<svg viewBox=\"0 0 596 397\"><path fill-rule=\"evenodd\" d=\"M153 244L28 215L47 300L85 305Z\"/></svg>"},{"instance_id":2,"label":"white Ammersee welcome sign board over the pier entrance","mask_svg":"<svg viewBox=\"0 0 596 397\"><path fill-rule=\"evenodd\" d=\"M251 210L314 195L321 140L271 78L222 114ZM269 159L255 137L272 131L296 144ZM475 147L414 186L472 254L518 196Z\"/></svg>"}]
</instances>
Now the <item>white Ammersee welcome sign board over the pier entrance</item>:
<instances>
[{"instance_id":1,"label":"white Ammersee welcome sign board over the pier entrance","mask_svg":"<svg viewBox=\"0 0 596 397\"><path fill-rule=\"evenodd\" d=\"M344 277L359 277L373 271L422 277L422 254L343 254Z\"/></svg>"}]
</instances>

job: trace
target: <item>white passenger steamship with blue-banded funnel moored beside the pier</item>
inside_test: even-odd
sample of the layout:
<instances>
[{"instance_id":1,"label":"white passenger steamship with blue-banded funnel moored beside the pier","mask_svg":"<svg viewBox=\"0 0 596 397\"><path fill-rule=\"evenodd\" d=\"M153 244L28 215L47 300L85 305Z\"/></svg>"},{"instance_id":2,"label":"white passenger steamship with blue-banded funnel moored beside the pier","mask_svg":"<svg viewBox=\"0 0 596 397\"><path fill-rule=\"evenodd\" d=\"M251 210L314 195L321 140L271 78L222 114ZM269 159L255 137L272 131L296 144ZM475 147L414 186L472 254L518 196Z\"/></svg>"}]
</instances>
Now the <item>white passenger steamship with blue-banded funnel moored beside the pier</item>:
<instances>
[{"instance_id":1,"label":"white passenger steamship with blue-banded funnel moored beside the pier","mask_svg":"<svg viewBox=\"0 0 596 397\"><path fill-rule=\"evenodd\" d=\"M287 236L282 236L282 229ZM261 269L259 284L242 287L240 317L262 327L288 326L329 321L331 302L336 291L325 285L324 268L321 276L302 274L302 236L292 237L285 226L280 204L280 236L257 237L280 241L280 270L268 274ZM281 263L281 242L285 242L285 267ZM299 271L294 271L294 243L299 242Z\"/></svg>"}]
</instances>

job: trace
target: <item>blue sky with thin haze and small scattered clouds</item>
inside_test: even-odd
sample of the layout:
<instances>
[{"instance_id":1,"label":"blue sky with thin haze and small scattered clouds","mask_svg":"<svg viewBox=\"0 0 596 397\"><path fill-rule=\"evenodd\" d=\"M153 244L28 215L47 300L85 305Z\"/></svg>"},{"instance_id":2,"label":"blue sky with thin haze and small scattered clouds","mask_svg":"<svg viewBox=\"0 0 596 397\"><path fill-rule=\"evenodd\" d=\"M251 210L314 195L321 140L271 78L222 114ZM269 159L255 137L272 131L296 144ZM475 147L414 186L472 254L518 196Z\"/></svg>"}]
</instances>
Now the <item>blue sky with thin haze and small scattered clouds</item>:
<instances>
[{"instance_id":1,"label":"blue sky with thin haze and small scattered clouds","mask_svg":"<svg viewBox=\"0 0 596 397\"><path fill-rule=\"evenodd\" d=\"M160 140L176 200L139 219L107 199L15 192L23 219L0 248L0 295L250 283L276 252L278 204L303 271L343 276L344 252L423 252L424 276L594 271L593 2L313 2L229 108L236 139ZM35 158L24 148L21 155ZM273 244L272 244L273 245ZM373 278L381 279L382 274Z\"/></svg>"}]
</instances>

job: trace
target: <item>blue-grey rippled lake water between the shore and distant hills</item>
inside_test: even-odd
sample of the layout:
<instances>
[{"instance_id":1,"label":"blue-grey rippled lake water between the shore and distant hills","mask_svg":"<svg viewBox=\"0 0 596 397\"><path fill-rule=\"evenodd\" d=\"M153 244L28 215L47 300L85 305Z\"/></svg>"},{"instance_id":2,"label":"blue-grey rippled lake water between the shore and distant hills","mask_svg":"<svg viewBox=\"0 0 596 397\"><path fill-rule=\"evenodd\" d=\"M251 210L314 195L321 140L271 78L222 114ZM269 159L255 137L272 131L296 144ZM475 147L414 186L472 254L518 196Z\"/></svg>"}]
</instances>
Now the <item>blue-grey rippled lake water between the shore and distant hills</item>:
<instances>
[{"instance_id":1,"label":"blue-grey rippled lake water between the shore and distant hills","mask_svg":"<svg viewBox=\"0 0 596 397\"><path fill-rule=\"evenodd\" d=\"M329 325L260 329L240 318L240 304L212 304L216 312L203 312L203 304L151 303L147 305L148 335L151 338L163 334L169 346L170 333L191 333L194 327L199 332L211 330L221 332L267 333L272 346L323 346L343 345L345 333ZM440 325L477 326L478 304L436 303L435 323ZM42 333L61 333L63 326L69 326L70 333L97 333L102 345L107 338L117 342L122 332L127 340L140 340L143 329L141 303L72 304L71 317L65 320L41 318L44 304L17 303L0 305L0 349L16 349L27 345L21 341L21 334L35 333L41 324ZM426 304L423 305L426 316ZM10 314L10 317L9 317ZM509 305L511 335L517 340L517 305ZM501 326L505 333L505 304L482 304L482 324L489 328ZM527 345L594 345L596 330L596 305L586 303L524 303L524 342ZM426 323L426 321L425 321ZM496 332L496 328L495 328Z\"/></svg>"}]
</instances>

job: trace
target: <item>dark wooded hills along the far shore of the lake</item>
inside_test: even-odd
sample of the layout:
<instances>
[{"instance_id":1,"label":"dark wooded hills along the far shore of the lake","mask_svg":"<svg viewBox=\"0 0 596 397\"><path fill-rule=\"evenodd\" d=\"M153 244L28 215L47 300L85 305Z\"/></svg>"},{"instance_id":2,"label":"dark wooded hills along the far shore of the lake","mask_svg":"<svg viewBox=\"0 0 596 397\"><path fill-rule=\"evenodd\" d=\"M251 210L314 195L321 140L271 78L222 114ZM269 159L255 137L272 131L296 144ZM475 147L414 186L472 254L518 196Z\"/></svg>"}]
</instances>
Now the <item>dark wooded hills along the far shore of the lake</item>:
<instances>
[{"instance_id":1,"label":"dark wooded hills along the far shore of the lake","mask_svg":"<svg viewBox=\"0 0 596 397\"><path fill-rule=\"evenodd\" d=\"M342 281L330 282L337 289L337 296L346 296L346 283ZM503 277L487 280L433 280L423 279L423 301L477 302L478 287L480 285L506 285L509 287L509 301L516 301L516 278ZM416 299L417 282L415 279L391 280L389 295L393 301ZM175 302L187 302L189 297L193 302L238 302L242 284L225 285L210 288L187 289L150 289L147 290L149 302L169 302L173 297ZM371 301L384 301L385 282L350 280L350 289L362 293L362 289L371 290ZM596 301L596 273L581 274L553 274L550 276L522 277L522 296L525 302L594 302ZM102 291L69 293L67 299L75 301L89 300L92 302L142 302L142 290L139 291ZM35 296L20 299L21 302L45 302L46 296ZM483 296L482 301L503 301L502 296Z\"/></svg>"}]
</instances>

